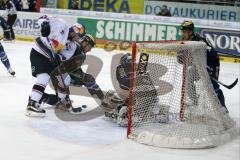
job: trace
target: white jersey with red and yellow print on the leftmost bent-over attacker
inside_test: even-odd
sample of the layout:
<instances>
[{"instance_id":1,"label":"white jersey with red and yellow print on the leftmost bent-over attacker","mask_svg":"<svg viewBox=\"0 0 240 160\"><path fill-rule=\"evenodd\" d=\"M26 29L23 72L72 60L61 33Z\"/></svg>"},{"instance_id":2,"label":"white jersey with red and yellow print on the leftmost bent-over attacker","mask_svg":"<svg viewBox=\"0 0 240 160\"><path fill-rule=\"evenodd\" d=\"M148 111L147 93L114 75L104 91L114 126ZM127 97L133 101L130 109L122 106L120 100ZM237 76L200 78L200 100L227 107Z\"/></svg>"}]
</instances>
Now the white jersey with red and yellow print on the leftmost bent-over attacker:
<instances>
[{"instance_id":1,"label":"white jersey with red and yellow print on the leftmost bent-over attacker","mask_svg":"<svg viewBox=\"0 0 240 160\"><path fill-rule=\"evenodd\" d=\"M39 26L44 21L48 21L50 24L50 34L48 37L38 37L33 48L45 57L50 58L46 51L50 50L55 54L64 47L68 38L69 26L63 19L48 16L39 18Z\"/></svg>"}]
</instances>

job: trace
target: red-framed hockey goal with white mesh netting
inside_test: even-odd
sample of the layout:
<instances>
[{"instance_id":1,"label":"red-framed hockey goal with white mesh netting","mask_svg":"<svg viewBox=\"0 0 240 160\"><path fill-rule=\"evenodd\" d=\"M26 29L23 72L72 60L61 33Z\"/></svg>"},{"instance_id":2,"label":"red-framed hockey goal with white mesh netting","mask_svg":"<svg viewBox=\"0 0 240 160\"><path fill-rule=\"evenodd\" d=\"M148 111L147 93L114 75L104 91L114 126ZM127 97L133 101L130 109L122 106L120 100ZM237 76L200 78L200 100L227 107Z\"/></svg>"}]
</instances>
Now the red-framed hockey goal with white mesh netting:
<instances>
[{"instance_id":1,"label":"red-framed hockey goal with white mesh netting","mask_svg":"<svg viewBox=\"0 0 240 160\"><path fill-rule=\"evenodd\" d=\"M128 138L170 148L206 148L239 134L221 110L203 42L133 44Z\"/></svg>"}]
</instances>

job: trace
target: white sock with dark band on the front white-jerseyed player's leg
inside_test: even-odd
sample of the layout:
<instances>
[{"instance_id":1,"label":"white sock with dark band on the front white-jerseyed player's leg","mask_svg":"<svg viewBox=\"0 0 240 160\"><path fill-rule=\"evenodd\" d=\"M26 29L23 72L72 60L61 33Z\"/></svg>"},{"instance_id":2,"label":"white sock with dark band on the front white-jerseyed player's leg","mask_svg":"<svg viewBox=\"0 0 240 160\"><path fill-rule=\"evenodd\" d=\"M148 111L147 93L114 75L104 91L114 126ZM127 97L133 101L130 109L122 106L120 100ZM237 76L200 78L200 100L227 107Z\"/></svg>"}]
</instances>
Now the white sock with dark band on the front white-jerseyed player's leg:
<instances>
[{"instance_id":1,"label":"white sock with dark band on the front white-jerseyed player's leg","mask_svg":"<svg viewBox=\"0 0 240 160\"><path fill-rule=\"evenodd\" d=\"M50 76L47 73L41 73L37 75L37 81L32 88L32 93L31 93L32 100L39 102L39 100L42 98L42 95L48 84L49 79L50 79Z\"/></svg>"}]
</instances>

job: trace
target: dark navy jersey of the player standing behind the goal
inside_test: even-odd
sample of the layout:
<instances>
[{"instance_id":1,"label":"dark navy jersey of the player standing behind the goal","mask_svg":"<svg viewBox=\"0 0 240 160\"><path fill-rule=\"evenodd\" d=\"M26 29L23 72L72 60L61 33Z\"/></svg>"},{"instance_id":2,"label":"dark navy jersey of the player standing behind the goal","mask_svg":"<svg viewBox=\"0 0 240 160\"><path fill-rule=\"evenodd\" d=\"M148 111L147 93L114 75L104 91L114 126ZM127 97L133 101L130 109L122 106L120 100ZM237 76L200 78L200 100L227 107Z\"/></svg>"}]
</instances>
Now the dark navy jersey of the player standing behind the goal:
<instances>
[{"instance_id":1,"label":"dark navy jersey of the player standing behind the goal","mask_svg":"<svg viewBox=\"0 0 240 160\"><path fill-rule=\"evenodd\" d=\"M219 62L219 56L217 52L214 50L213 46L203 37L201 37L199 34L194 33L192 41L203 41L207 44L207 65L211 69L215 70L216 67L220 66Z\"/></svg>"}]
</instances>

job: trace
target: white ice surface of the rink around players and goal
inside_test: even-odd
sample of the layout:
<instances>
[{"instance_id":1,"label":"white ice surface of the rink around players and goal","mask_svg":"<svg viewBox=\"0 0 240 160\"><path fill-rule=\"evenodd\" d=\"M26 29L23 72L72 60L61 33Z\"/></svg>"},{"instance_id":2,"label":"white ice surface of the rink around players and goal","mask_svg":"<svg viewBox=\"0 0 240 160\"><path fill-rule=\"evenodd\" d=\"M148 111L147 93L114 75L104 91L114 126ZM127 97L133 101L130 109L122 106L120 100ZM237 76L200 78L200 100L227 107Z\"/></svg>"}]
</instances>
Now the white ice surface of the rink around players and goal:
<instances>
[{"instance_id":1,"label":"white ice surface of the rink around players and goal","mask_svg":"<svg viewBox=\"0 0 240 160\"><path fill-rule=\"evenodd\" d=\"M28 96L35 79L31 76L29 53L32 42L4 43L16 77L0 65L0 159L1 160L239 160L240 137L209 149L167 149L142 145L126 138L126 128L99 117L93 120L62 121L54 109L45 118L25 116ZM118 53L117 51L115 53ZM97 83L113 89L110 64L114 53L93 49L103 61ZM230 84L240 78L240 64L221 62L220 80ZM231 90L221 87L230 115L240 119L239 83ZM51 92L50 88L47 91ZM53 91L52 91L53 92ZM73 105L97 106L91 98L72 96Z\"/></svg>"}]
</instances>

